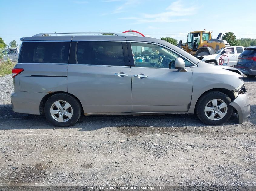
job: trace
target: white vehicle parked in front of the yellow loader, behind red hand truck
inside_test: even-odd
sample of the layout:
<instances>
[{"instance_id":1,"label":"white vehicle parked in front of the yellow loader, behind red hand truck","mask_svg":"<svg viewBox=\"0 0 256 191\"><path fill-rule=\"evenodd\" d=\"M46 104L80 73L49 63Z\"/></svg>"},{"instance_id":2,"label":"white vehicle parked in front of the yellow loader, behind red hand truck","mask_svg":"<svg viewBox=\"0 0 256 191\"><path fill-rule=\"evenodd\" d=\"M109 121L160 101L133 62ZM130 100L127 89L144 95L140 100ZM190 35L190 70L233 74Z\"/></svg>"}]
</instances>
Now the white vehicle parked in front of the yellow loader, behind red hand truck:
<instances>
[{"instance_id":1,"label":"white vehicle parked in front of the yellow loader, behind red hand truck","mask_svg":"<svg viewBox=\"0 0 256 191\"><path fill-rule=\"evenodd\" d=\"M238 56L244 51L243 46L228 46L222 49L219 49L214 54L205 55L205 56L197 56L203 62L209 64L216 64L219 65L220 57L222 55L222 62L228 63L228 66L236 65L238 61ZM223 60L224 59L224 60Z\"/></svg>"}]
</instances>

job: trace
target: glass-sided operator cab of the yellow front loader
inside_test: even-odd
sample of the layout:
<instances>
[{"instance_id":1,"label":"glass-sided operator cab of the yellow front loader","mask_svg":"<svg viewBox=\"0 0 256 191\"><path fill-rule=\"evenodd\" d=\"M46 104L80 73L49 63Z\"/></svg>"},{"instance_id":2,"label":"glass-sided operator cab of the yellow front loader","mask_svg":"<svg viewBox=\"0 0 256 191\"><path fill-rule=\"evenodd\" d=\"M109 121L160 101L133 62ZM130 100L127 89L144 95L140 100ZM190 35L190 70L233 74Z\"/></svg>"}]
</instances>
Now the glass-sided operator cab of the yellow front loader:
<instances>
[{"instance_id":1,"label":"glass-sided operator cab of the yellow front loader","mask_svg":"<svg viewBox=\"0 0 256 191\"><path fill-rule=\"evenodd\" d=\"M206 31L194 31L188 33L188 49L192 49L193 51L197 51L198 48L203 46L204 40L211 39L212 32Z\"/></svg>"}]
</instances>

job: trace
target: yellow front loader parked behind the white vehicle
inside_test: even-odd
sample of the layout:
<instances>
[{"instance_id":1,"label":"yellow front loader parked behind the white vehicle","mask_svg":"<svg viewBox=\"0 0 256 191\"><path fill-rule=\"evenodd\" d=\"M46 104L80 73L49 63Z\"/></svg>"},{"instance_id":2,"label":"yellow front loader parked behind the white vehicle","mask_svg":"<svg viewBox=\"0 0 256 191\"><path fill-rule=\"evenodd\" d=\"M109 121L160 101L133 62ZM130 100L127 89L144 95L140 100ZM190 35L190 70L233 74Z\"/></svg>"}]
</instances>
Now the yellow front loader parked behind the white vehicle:
<instances>
[{"instance_id":1,"label":"yellow front loader parked behind the white vehicle","mask_svg":"<svg viewBox=\"0 0 256 191\"><path fill-rule=\"evenodd\" d=\"M204 56L215 53L221 48L230 46L226 40L222 40L220 33L216 39L212 39L211 31L194 31L188 33L188 40L185 45L182 45L182 40L178 43L178 47L182 48L186 52L193 56Z\"/></svg>"}]
</instances>

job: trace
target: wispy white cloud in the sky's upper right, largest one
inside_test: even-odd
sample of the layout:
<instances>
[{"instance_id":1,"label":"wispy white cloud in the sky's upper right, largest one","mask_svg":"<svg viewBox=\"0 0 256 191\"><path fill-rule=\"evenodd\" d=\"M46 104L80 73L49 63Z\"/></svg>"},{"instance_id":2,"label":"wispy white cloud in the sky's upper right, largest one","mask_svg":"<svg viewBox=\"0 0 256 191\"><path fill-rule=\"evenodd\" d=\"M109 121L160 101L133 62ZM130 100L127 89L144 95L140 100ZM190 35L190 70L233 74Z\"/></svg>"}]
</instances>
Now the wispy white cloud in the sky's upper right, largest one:
<instances>
[{"instance_id":1,"label":"wispy white cloud in the sky's upper right, largest one","mask_svg":"<svg viewBox=\"0 0 256 191\"><path fill-rule=\"evenodd\" d=\"M165 12L157 14L142 13L138 17L123 17L120 19L136 20L137 23L153 23L153 22L181 22L188 21L187 18L177 19L176 17L189 16L197 12L197 7L185 7L181 1L173 2L165 10Z\"/></svg>"}]
</instances>

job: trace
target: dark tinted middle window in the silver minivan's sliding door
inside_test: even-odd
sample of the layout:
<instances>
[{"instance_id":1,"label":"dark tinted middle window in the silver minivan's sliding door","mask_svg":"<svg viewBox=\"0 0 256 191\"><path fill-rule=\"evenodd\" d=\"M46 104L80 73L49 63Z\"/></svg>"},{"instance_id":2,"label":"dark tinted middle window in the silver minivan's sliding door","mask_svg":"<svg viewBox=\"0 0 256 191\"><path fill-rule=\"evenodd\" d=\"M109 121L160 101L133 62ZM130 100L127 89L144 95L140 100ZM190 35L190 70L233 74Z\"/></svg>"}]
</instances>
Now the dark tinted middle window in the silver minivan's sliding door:
<instances>
[{"instance_id":1,"label":"dark tinted middle window in the silver minivan's sliding door","mask_svg":"<svg viewBox=\"0 0 256 191\"><path fill-rule=\"evenodd\" d=\"M125 66L122 42L78 41L75 60L71 56L69 63Z\"/></svg>"}]
</instances>

